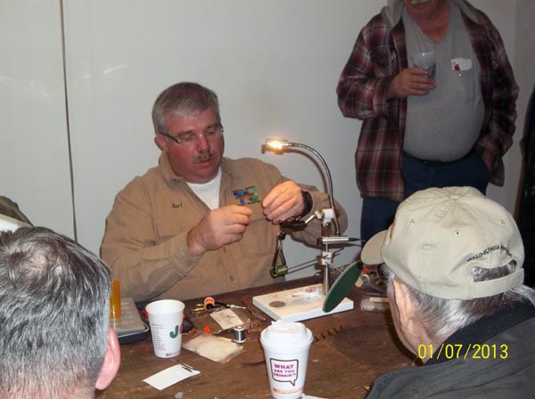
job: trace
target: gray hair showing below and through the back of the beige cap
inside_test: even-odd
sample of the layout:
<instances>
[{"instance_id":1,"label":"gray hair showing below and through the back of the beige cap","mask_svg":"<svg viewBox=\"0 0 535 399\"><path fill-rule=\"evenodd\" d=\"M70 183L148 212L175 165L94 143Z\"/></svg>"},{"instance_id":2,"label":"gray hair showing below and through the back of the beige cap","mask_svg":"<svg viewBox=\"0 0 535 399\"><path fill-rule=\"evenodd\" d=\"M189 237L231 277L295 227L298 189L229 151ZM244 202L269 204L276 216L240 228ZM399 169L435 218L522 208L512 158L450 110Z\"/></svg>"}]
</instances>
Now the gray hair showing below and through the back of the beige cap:
<instances>
[{"instance_id":1,"label":"gray hair showing below and through the back of the beige cap","mask_svg":"<svg viewBox=\"0 0 535 399\"><path fill-rule=\"evenodd\" d=\"M514 270L516 270L515 261L491 270L473 266L473 280L493 280L513 273ZM391 291L392 281L397 277L387 265L382 265L382 271L388 277L387 289ZM432 297L409 287L407 284L405 286L414 299L416 312L419 314L420 321L424 324L427 333L440 342L443 342L455 331L476 322L486 314L492 314L499 308L511 307L515 302L527 302L535 305L535 290L524 284L498 295L469 300Z\"/></svg>"}]
</instances>

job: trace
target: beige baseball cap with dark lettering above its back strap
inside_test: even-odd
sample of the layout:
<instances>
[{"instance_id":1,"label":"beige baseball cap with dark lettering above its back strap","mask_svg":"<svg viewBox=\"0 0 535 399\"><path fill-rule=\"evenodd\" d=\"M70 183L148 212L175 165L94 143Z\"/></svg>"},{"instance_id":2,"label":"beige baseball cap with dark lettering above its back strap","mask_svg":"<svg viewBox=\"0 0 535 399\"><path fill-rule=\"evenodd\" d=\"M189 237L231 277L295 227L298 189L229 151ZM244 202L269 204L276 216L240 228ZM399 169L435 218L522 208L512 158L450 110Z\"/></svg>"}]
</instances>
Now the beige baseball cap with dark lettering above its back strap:
<instances>
[{"instance_id":1,"label":"beige baseball cap with dark lettering above its back strap","mask_svg":"<svg viewBox=\"0 0 535 399\"><path fill-rule=\"evenodd\" d=\"M444 299L490 297L523 282L523 242L513 216L472 187L417 191L360 257L366 265L384 263L408 286ZM473 280L472 266L494 269L513 260L514 273Z\"/></svg>"}]
</instances>

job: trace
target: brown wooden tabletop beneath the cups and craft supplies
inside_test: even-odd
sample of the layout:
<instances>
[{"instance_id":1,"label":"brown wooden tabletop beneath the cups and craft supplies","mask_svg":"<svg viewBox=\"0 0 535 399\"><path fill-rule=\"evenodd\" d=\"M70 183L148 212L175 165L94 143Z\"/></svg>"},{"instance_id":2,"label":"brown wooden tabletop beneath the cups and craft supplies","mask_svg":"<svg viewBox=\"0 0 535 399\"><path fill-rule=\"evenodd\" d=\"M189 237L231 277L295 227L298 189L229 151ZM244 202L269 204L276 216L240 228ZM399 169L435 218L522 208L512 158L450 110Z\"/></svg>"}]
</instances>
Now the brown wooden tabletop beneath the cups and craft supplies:
<instances>
[{"instance_id":1,"label":"brown wooden tabletop beneath the cups and craft supplies","mask_svg":"<svg viewBox=\"0 0 535 399\"><path fill-rule=\"evenodd\" d=\"M241 305L242 299L317 282L319 281L315 278L309 277L244 289L215 298L221 302ZM350 293L349 297L355 301L354 310L304 322L318 338L310 347L305 386L307 395L329 399L364 398L365 387L371 385L378 375L412 366L412 359L396 338L391 315L360 311L361 296L362 291L359 289L353 289ZM195 303L199 301L186 301L186 312ZM269 323L270 319L267 317L261 329ZM335 332L334 329L340 332ZM270 398L268 372L265 362L261 362L263 352L259 343L259 332L251 332L246 338L243 353L225 364L212 362L182 349L177 360L193 366L201 371L201 374L162 391L144 383L143 379L176 363L156 357L152 351L151 338L123 345L119 374L110 387L97 393L97 397L169 399L182 392L183 399Z\"/></svg>"}]
</instances>

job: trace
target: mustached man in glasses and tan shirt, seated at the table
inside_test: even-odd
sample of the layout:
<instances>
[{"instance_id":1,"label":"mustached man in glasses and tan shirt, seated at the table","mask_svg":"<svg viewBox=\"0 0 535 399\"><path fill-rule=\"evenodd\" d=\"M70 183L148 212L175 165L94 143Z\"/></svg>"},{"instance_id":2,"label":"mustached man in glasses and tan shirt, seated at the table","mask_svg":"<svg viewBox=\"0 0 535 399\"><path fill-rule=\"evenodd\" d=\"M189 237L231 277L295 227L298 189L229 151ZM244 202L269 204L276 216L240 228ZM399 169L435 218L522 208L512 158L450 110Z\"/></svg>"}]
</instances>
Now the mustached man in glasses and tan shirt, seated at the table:
<instances>
[{"instance_id":1,"label":"mustached man in glasses and tan shirt, seated at the table","mask_svg":"<svg viewBox=\"0 0 535 399\"><path fill-rule=\"evenodd\" d=\"M223 157L218 97L202 85L163 91L152 122L159 165L119 192L101 248L123 296L187 299L272 283L279 223L330 208L327 194L258 159ZM311 245L320 236L317 220L292 232Z\"/></svg>"}]
</instances>

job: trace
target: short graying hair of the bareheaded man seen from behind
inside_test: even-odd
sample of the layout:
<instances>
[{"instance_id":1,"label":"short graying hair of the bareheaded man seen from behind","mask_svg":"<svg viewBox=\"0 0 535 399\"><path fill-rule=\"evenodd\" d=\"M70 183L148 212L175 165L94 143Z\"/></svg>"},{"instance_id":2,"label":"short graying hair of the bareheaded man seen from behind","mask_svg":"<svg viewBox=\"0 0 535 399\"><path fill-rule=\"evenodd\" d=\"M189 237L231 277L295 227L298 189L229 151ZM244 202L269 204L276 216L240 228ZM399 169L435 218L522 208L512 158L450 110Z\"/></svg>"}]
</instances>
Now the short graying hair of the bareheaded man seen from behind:
<instances>
[{"instance_id":1,"label":"short graying hair of the bareheaded man seen from behind","mask_svg":"<svg viewBox=\"0 0 535 399\"><path fill-rule=\"evenodd\" d=\"M0 232L0 397L93 397L111 272L45 227Z\"/></svg>"}]
</instances>

